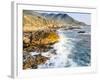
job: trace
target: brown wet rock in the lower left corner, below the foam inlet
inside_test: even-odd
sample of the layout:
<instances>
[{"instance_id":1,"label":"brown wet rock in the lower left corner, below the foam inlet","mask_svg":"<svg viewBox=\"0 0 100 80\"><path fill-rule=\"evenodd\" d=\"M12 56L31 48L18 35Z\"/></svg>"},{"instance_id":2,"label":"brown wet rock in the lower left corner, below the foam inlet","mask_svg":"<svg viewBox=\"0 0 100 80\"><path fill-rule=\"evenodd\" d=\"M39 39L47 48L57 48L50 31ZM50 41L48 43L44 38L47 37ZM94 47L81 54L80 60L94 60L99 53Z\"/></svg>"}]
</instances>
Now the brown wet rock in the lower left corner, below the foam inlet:
<instances>
[{"instance_id":1,"label":"brown wet rock in the lower left corner, below the foam inlet","mask_svg":"<svg viewBox=\"0 0 100 80\"><path fill-rule=\"evenodd\" d=\"M26 60L25 60L26 59ZM36 69L39 64L44 64L49 58L42 56L41 54L34 57L27 54L27 58L23 60L23 69Z\"/></svg>"}]
</instances>

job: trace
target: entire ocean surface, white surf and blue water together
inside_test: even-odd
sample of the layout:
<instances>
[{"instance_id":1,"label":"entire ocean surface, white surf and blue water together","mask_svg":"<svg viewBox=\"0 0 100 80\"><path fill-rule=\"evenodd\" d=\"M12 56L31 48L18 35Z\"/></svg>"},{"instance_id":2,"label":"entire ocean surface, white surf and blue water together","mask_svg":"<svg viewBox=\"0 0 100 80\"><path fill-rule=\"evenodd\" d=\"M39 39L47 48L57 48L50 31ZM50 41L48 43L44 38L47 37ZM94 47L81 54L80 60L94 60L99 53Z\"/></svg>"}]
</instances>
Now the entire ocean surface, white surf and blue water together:
<instances>
[{"instance_id":1,"label":"entire ocean surface, white surf and blue water together","mask_svg":"<svg viewBox=\"0 0 100 80\"><path fill-rule=\"evenodd\" d=\"M80 32L84 31L84 32ZM49 57L45 64L38 68L84 67L91 65L91 30L90 26L81 29L58 29L59 42L52 45L53 49L42 52Z\"/></svg>"}]
</instances>

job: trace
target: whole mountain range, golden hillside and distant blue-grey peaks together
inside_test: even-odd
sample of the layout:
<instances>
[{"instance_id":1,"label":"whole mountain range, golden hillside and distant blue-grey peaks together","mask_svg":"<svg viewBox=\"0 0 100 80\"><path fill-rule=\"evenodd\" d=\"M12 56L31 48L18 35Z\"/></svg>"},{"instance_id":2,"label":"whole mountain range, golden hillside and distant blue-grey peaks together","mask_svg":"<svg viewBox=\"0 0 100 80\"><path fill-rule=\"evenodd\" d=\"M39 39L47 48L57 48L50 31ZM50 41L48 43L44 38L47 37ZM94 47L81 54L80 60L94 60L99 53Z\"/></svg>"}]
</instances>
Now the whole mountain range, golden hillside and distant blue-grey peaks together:
<instances>
[{"instance_id":1,"label":"whole mountain range, golden hillside and distant blue-grey peaks together","mask_svg":"<svg viewBox=\"0 0 100 80\"><path fill-rule=\"evenodd\" d=\"M74 20L67 14L63 13L37 13L34 11L23 11L23 31L31 32L44 29L54 29L61 27L79 27L80 25L86 25L83 22Z\"/></svg>"}]
</instances>

